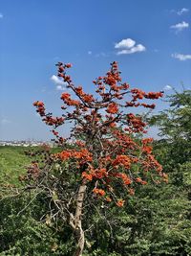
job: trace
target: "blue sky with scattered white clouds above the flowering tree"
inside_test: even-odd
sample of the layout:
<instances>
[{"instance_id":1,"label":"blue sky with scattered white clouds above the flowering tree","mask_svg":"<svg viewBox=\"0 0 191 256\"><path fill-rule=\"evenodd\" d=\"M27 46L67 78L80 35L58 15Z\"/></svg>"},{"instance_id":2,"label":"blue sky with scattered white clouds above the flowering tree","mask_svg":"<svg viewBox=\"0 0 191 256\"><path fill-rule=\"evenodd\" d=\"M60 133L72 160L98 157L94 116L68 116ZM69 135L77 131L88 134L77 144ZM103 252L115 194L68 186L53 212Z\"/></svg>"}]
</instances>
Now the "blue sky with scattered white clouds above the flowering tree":
<instances>
[{"instance_id":1,"label":"blue sky with scattered white clouds above the flowering tree","mask_svg":"<svg viewBox=\"0 0 191 256\"><path fill-rule=\"evenodd\" d=\"M190 0L0 0L0 34L0 140L51 138L32 103L60 113L57 61L88 92L114 60L132 87L190 88Z\"/></svg>"}]
</instances>

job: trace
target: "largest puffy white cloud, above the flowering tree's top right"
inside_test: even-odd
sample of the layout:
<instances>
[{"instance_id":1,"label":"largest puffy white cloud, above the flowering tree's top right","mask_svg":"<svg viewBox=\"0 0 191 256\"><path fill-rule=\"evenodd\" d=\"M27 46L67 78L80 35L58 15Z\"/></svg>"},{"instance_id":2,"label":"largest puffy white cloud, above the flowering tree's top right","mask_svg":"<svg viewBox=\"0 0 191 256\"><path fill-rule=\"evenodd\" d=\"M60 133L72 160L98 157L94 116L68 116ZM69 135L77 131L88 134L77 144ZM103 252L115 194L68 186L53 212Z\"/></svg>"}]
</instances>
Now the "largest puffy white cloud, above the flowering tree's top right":
<instances>
[{"instance_id":1,"label":"largest puffy white cloud, above the flowering tree's top right","mask_svg":"<svg viewBox=\"0 0 191 256\"><path fill-rule=\"evenodd\" d=\"M115 48L118 49L117 55L131 55L146 50L142 44L136 44L136 41L131 38L117 42Z\"/></svg>"}]
</instances>

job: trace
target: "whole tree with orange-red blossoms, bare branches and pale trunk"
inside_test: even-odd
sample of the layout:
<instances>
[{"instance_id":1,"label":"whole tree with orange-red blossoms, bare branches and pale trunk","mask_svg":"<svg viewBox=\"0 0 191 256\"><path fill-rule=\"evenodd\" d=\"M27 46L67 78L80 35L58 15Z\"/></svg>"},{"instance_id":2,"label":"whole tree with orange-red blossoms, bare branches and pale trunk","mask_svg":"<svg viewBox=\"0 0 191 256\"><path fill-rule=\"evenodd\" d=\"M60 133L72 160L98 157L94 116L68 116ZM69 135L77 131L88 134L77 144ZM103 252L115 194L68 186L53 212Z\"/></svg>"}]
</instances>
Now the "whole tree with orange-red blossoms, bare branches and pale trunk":
<instances>
[{"instance_id":1,"label":"whole tree with orange-red blossoms, bare branches and pale trunk","mask_svg":"<svg viewBox=\"0 0 191 256\"><path fill-rule=\"evenodd\" d=\"M88 94L82 86L75 86L67 74L71 67L57 63L58 77L72 91L61 95L61 117L47 113L42 102L33 104L43 122L52 127L54 141L62 151L48 153L44 166L33 163L28 179L30 176L33 186L49 194L56 208L52 216L61 215L70 223L77 239L74 255L82 255L84 207L97 199L122 207L126 203L121 198L122 191L134 195L136 186L145 185L148 176L159 183L161 179L167 181L167 175L152 154L152 139L139 140L135 136L146 132L146 124L140 115L128 111L138 106L154 108L147 100L159 99L162 92L130 89L128 83L121 81L114 61L106 76L93 81L95 95ZM67 122L74 127L70 138L65 139L56 128ZM70 148L66 147L68 141L73 142ZM50 163L52 168L47 168Z\"/></svg>"}]
</instances>

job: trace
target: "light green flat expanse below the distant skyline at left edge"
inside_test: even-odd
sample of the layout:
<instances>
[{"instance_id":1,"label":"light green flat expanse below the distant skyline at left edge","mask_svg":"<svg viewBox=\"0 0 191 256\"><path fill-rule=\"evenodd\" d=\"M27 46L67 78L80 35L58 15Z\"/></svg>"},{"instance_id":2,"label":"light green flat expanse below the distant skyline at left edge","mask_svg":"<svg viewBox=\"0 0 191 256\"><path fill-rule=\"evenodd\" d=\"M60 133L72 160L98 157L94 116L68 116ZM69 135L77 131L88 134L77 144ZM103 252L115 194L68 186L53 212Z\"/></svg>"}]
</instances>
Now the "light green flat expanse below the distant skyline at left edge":
<instances>
[{"instance_id":1,"label":"light green flat expanse below the distant skyline at left edge","mask_svg":"<svg viewBox=\"0 0 191 256\"><path fill-rule=\"evenodd\" d=\"M25 155L29 148L1 146L0 147L0 183L19 183L18 176L26 173L26 167L31 159Z\"/></svg>"}]
</instances>

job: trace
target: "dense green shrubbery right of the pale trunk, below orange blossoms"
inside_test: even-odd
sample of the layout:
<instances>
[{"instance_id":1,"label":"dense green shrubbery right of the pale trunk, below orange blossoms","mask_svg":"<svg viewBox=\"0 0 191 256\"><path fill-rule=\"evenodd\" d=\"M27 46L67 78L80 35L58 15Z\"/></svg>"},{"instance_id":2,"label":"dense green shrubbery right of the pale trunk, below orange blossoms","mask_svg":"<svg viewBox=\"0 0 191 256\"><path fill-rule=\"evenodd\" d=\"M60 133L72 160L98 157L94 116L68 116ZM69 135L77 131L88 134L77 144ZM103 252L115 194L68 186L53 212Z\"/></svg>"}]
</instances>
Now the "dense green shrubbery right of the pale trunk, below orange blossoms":
<instances>
[{"instance_id":1,"label":"dense green shrubbery right of the pale trunk, below orange blossoms","mask_svg":"<svg viewBox=\"0 0 191 256\"><path fill-rule=\"evenodd\" d=\"M94 255L97 246L102 255L189 255L190 207L182 195L173 197L170 184L148 185L129 198L124 209L106 209L111 226L100 219L96 222L88 236L94 241L88 255Z\"/></svg>"}]
</instances>

